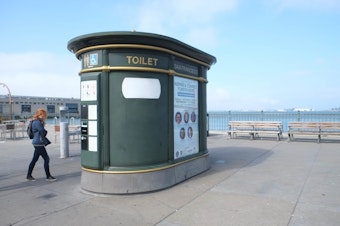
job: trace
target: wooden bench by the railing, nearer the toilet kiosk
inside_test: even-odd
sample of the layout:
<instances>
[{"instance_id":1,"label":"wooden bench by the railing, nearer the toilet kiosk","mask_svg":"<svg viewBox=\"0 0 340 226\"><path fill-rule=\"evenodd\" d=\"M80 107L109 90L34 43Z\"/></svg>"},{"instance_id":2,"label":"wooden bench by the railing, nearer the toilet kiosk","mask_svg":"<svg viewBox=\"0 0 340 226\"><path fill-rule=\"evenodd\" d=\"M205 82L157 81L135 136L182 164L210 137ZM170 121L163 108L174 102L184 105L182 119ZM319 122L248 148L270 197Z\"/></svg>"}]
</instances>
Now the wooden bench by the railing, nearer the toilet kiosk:
<instances>
[{"instance_id":1,"label":"wooden bench by the railing, nearer the toilet kiosk","mask_svg":"<svg viewBox=\"0 0 340 226\"><path fill-rule=\"evenodd\" d=\"M229 121L227 131L230 138L234 138L237 134L246 133L250 135L250 139L259 137L259 134L274 134L277 140L282 138L282 122L279 121Z\"/></svg>"}]
</instances>

